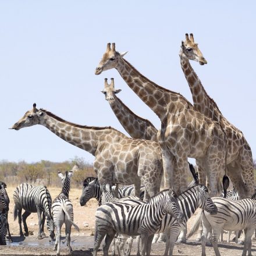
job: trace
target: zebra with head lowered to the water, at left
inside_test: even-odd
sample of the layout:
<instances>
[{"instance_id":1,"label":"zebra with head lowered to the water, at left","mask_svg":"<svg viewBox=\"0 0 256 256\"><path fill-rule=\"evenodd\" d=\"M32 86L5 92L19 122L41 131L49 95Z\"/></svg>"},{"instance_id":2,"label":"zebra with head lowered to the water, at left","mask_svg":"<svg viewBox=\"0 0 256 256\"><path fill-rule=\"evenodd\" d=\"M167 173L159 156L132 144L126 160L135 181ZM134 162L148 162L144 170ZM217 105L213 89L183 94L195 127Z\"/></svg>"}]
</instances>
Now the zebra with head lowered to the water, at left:
<instances>
[{"instance_id":1,"label":"zebra with head lowered to the water, at left","mask_svg":"<svg viewBox=\"0 0 256 256\"><path fill-rule=\"evenodd\" d=\"M13 192L13 200L15 207L13 209L14 220L19 218L20 236L24 236L22 232L22 222L24 225L25 236L29 236L26 219L31 212L37 212L38 216L38 239L45 236L44 222L47 218L47 229L51 239L54 239L54 222L51 215L52 198L46 186L33 186L31 184L22 183L16 187ZM22 209L25 210L22 215ZM41 217L42 215L42 217Z\"/></svg>"}]
</instances>

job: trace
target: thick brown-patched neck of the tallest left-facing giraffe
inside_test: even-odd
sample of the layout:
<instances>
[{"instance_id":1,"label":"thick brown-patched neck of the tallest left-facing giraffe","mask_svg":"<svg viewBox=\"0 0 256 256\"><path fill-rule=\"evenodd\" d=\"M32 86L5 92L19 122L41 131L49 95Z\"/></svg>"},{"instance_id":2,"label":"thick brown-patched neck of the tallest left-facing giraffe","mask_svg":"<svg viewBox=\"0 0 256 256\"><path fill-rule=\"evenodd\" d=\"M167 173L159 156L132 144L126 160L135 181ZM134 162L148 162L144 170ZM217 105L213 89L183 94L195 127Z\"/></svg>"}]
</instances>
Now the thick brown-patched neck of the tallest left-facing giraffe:
<instances>
[{"instance_id":1,"label":"thick brown-patched neck of the tallest left-facing giraffe","mask_svg":"<svg viewBox=\"0 0 256 256\"><path fill-rule=\"evenodd\" d=\"M116 69L127 85L147 104L162 120L166 115L166 105L170 99L170 91L153 83L138 72L129 62L120 58Z\"/></svg>"}]
</instances>

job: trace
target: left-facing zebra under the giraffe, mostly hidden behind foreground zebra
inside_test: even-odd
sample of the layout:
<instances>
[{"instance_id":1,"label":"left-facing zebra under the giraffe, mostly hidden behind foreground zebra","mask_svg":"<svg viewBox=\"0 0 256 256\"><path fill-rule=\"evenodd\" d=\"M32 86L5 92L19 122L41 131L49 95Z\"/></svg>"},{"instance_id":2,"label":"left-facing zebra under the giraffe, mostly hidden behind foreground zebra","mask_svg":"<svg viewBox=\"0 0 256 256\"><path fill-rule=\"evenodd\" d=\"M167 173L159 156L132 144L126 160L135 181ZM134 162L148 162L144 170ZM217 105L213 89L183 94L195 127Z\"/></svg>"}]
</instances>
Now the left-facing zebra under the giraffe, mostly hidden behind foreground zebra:
<instances>
[{"instance_id":1,"label":"left-facing zebra under the giraffe, mostly hidden behind foreground zebra","mask_svg":"<svg viewBox=\"0 0 256 256\"><path fill-rule=\"evenodd\" d=\"M112 189L114 189L112 187ZM145 193L145 187L141 186L140 189L140 199L143 200ZM120 187L118 189L118 197L127 197L129 195L134 194L134 187L133 186L125 186ZM98 204L101 205L101 187L99 185L98 179L93 177L87 177L83 182L83 191L80 197L80 205L84 206L91 198L96 198Z\"/></svg>"}]
</instances>

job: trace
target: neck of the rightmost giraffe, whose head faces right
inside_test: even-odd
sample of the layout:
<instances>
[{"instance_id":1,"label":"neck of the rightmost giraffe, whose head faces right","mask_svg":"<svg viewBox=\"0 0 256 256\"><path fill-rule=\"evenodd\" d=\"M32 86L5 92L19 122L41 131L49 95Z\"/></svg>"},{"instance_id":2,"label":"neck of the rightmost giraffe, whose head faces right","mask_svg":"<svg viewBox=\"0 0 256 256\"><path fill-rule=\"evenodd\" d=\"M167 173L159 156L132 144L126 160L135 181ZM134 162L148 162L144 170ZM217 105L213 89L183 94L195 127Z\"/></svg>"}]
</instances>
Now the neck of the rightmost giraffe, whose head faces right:
<instances>
[{"instance_id":1,"label":"neck of the rightmost giraffe, whose head faces right","mask_svg":"<svg viewBox=\"0 0 256 256\"><path fill-rule=\"evenodd\" d=\"M200 79L190 65L189 59L183 54L182 50L180 52L180 65L182 66L184 76L189 84L195 108L208 118L219 122L222 118L221 111L214 99L209 97L205 91Z\"/></svg>"}]
</instances>

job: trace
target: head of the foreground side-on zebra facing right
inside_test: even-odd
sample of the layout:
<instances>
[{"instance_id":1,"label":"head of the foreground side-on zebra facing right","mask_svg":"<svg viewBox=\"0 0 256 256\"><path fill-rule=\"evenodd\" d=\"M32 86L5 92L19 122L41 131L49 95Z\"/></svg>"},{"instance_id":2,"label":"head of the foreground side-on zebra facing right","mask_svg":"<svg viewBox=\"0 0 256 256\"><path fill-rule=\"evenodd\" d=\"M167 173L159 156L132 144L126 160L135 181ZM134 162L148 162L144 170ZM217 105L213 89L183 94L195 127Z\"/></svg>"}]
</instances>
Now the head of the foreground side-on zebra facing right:
<instances>
[{"instance_id":1,"label":"head of the foreground side-on zebra facing right","mask_svg":"<svg viewBox=\"0 0 256 256\"><path fill-rule=\"evenodd\" d=\"M171 189L168 190L168 196L165 204L165 211L172 215L178 223L182 223L184 214L180 211L179 203L177 201L177 195Z\"/></svg>"}]
</instances>

